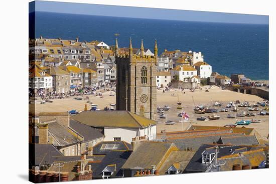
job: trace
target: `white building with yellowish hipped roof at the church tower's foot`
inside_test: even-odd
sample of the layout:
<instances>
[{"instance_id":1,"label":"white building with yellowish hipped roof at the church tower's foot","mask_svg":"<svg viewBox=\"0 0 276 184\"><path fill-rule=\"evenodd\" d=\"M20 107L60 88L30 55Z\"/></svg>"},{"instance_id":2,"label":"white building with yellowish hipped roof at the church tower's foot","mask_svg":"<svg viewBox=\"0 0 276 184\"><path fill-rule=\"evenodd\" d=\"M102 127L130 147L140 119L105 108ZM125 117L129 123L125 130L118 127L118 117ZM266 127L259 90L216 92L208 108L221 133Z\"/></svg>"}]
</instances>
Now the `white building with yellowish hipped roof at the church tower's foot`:
<instances>
[{"instance_id":1,"label":"white building with yellowish hipped roof at the church tower's foot","mask_svg":"<svg viewBox=\"0 0 276 184\"><path fill-rule=\"evenodd\" d=\"M72 119L100 130L104 141L126 141L132 138L156 138L156 121L125 110L116 111L84 111Z\"/></svg>"}]
</instances>

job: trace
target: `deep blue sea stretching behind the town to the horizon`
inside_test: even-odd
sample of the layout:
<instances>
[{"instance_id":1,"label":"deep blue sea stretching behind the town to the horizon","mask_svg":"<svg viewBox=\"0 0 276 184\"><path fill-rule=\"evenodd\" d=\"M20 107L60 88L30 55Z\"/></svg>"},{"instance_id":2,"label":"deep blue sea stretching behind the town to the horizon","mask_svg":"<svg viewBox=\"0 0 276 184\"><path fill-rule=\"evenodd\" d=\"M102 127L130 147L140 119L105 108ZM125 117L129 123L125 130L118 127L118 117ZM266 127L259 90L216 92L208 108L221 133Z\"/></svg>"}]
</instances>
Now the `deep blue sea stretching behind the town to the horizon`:
<instances>
[{"instance_id":1,"label":"deep blue sea stretching behind the town to the horizon","mask_svg":"<svg viewBox=\"0 0 276 184\"><path fill-rule=\"evenodd\" d=\"M119 34L119 35L117 35ZM268 80L268 25L134 19L91 15L35 13L35 37L103 41L119 47L202 52L221 75L242 73Z\"/></svg>"}]
</instances>

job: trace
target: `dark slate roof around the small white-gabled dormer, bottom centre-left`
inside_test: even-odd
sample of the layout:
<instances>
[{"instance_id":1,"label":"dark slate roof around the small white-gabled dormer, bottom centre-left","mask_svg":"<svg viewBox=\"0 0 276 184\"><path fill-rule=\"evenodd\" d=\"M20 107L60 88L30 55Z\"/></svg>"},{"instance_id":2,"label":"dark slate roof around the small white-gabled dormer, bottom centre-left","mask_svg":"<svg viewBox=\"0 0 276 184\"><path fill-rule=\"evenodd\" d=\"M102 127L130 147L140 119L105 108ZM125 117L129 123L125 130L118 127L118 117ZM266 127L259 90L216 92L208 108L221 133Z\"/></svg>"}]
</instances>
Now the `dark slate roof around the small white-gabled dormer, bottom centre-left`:
<instances>
[{"instance_id":1,"label":"dark slate roof around the small white-gabled dormer, bottom centre-left","mask_svg":"<svg viewBox=\"0 0 276 184\"><path fill-rule=\"evenodd\" d=\"M106 166L114 168L114 172L111 177L122 177L121 167L128 159L131 151L124 150L112 150L108 152L100 162L88 162L93 170L93 178L101 178L102 170Z\"/></svg>"}]
</instances>

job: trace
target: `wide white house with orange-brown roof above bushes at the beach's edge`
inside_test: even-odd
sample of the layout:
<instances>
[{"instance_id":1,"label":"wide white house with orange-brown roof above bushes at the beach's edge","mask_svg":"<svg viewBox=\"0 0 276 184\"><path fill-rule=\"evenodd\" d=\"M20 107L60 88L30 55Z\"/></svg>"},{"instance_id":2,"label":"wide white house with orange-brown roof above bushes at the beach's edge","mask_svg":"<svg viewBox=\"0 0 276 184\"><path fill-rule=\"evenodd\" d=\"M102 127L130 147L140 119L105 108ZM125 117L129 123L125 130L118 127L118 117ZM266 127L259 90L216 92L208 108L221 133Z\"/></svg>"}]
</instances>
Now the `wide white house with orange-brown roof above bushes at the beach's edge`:
<instances>
[{"instance_id":1,"label":"wide white house with orange-brown roof above bushes at the beach's edge","mask_svg":"<svg viewBox=\"0 0 276 184\"><path fill-rule=\"evenodd\" d=\"M174 76L178 75L180 81L186 82L191 77L197 75L197 70L191 66L187 65L178 65L171 70L171 77L174 79Z\"/></svg>"}]
</instances>

